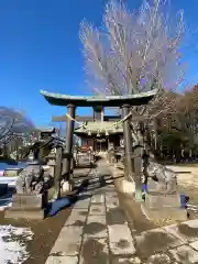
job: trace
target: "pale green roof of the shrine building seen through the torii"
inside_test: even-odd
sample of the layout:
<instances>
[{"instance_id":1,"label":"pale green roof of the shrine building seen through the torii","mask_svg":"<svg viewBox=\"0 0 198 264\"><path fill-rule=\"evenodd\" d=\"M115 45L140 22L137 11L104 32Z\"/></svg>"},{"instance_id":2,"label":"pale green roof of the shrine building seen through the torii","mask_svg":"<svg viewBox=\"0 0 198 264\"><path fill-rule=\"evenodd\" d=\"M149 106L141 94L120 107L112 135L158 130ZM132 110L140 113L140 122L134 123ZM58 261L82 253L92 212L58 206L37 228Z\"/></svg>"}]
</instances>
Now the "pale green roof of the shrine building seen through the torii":
<instances>
[{"instance_id":1,"label":"pale green roof of the shrine building seen through the torii","mask_svg":"<svg viewBox=\"0 0 198 264\"><path fill-rule=\"evenodd\" d=\"M118 123L114 125L116 122L113 121L95 121L95 122L87 122L85 127L79 127L75 129L75 134L87 134L89 131L94 134L98 133L106 133L109 134L117 134L123 133L123 124Z\"/></svg>"}]
</instances>

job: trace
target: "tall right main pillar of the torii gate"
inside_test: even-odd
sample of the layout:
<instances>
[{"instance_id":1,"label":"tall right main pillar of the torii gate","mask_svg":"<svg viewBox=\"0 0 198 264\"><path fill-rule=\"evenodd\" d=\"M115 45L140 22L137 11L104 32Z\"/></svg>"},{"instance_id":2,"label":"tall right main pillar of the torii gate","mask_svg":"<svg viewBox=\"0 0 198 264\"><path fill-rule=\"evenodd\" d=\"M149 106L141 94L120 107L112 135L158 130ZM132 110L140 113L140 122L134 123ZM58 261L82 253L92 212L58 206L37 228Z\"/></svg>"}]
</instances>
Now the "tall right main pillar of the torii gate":
<instances>
[{"instance_id":1,"label":"tall right main pillar of the torii gate","mask_svg":"<svg viewBox=\"0 0 198 264\"><path fill-rule=\"evenodd\" d=\"M130 106L122 106L122 118L127 117L129 114ZM124 138L124 154L125 154L125 166L127 166L127 179L132 182L134 179L134 173L133 173L133 163L132 163L132 136L131 136L131 128L130 128L130 120L127 119L123 122L123 138Z\"/></svg>"}]
</instances>

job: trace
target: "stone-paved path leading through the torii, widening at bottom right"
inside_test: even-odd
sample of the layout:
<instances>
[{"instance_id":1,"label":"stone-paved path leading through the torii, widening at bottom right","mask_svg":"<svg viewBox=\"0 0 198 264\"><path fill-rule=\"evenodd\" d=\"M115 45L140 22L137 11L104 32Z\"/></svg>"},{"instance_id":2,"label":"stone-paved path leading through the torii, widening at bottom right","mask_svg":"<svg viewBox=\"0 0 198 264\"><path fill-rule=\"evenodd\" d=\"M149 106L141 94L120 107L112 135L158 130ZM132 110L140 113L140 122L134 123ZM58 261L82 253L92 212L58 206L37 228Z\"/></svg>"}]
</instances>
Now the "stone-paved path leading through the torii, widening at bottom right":
<instances>
[{"instance_id":1,"label":"stone-paved path leading through the torii, widening at bottom right","mask_svg":"<svg viewBox=\"0 0 198 264\"><path fill-rule=\"evenodd\" d=\"M136 234L119 206L109 168L100 164L90 177L46 264L198 263L197 219Z\"/></svg>"}]
</instances>

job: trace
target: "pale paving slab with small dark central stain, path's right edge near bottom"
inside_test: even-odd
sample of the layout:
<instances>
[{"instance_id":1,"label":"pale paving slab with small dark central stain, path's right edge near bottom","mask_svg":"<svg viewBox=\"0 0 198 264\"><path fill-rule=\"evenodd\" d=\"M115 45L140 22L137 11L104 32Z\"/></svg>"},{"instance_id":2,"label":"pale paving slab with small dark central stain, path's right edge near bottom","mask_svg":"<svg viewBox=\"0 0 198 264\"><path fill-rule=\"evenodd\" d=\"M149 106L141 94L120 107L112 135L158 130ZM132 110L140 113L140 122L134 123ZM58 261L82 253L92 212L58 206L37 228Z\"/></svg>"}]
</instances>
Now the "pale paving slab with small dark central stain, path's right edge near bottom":
<instances>
[{"instance_id":1,"label":"pale paving slab with small dark central stain, path's right edge near bottom","mask_svg":"<svg viewBox=\"0 0 198 264\"><path fill-rule=\"evenodd\" d=\"M108 227L109 246L114 255L134 254L134 241L131 231L125 224L113 224Z\"/></svg>"}]
</instances>

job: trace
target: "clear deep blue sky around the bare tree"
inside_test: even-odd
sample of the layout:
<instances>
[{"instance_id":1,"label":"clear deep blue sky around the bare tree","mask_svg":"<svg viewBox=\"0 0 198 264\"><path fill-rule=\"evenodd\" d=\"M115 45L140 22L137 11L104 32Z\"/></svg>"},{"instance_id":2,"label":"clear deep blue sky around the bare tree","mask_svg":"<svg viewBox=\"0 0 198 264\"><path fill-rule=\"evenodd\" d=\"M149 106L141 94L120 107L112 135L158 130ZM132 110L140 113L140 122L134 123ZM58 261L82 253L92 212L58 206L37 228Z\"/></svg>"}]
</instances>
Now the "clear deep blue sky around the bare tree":
<instances>
[{"instance_id":1,"label":"clear deep blue sky around the bare tree","mask_svg":"<svg viewBox=\"0 0 198 264\"><path fill-rule=\"evenodd\" d=\"M24 111L37 125L48 125L53 114L66 109L50 106L40 89L89 95L86 87L79 23L86 18L101 23L106 0L0 0L0 106ZM129 0L136 8L141 0ZM173 0L184 9L193 31L198 28L197 0ZM184 48L187 78L198 82L198 33ZM194 44L195 43L195 44ZM191 48L195 45L195 48ZM81 114L90 112L78 110Z\"/></svg>"}]
</instances>

